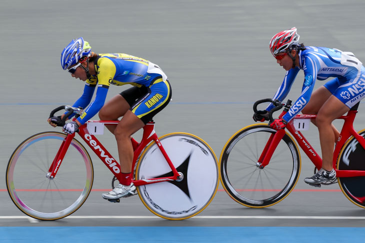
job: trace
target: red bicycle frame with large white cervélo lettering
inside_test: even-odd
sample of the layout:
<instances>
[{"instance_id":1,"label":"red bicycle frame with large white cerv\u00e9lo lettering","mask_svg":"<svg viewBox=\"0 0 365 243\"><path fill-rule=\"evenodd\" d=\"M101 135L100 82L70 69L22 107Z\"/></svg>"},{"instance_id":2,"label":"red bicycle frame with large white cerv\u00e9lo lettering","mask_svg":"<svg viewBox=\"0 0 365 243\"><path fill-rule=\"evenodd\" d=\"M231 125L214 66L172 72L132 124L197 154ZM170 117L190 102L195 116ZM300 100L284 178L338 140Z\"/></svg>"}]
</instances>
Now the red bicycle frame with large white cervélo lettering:
<instances>
[{"instance_id":1,"label":"red bicycle frame with large white cerv\u00e9lo lettering","mask_svg":"<svg viewBox=\"0 0 365 243\"><path fill-rule=\"evenodd\" d=\"M103 124L118 124L119 121L88 121L87 123L103 123ZM100 160L104 163L104 165L113 173L113 175L120 181L120 164L110 155L110 153L102 146L102 144L96 139L96 137L89 133L87 130L87 123L80 126L78 129L78 134L81 136L83 141L94 151L94 153L100 158ZM56 156L53 159L52 164L49 167L48 173L50 173L50 177L54 178L59 166L62 163L64 155L67 152L67 149L74 138L75 133L67 135L67 137L62 141L61 146L58 149ZM133 180L133 184L135 186L142 186L157 182L165 182L165 181L174 181L180 175L178 174L176 168L173 166L171 160L168 158L166 151L163 149L161 143L158 140L158 137L154 131L154 122L148 122L143 127L143 135L140 143L131 138L131 142L133 145L133 162L132 167L134 168L135 162L142 152L143 148L147 146L151 141L154 141L161 151L163 157L166 159L167 164L172 170L172 176L170 177L160 177L160 178L152 178L147 180Z\"/></svg>"}]
</instances>

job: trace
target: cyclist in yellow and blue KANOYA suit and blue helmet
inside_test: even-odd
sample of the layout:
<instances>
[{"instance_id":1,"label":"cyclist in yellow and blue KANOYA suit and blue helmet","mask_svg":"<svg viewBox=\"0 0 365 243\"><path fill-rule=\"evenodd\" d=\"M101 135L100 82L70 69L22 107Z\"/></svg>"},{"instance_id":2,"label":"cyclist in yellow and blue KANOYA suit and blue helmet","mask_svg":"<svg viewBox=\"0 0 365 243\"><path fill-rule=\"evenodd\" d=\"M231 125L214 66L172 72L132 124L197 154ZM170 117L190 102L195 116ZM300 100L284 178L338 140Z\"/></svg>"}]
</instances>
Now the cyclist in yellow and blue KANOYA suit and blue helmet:
<instances>
[{"instance_id":1,"label":"cyclist in yellow and blue KANOYA suit and blue helmet","mask_svg":"<svg viewBox=\"0 0 365 243\"><path fill-rule=\"evenodd\" d=\"M122 117L117 126L106 126L115 135L122 180L102 197L115 200L133 195L135 186L131 182L133 148L130 136L170 101L171 87L167 76L159 66L143 58L122 53L95 54L82 37L72 40L63 49L61 66L72 77L86 81L81 97L73 106L88 107L75 121L61 124L62 115L49 118L48 122L52 126L63 126L64 132L72 134L97 112L100 120L118 120ZM109 86L124 84L133 87L105 103ZM89 105L95 89L96 96Z\"/></svg>"}]
</instances>

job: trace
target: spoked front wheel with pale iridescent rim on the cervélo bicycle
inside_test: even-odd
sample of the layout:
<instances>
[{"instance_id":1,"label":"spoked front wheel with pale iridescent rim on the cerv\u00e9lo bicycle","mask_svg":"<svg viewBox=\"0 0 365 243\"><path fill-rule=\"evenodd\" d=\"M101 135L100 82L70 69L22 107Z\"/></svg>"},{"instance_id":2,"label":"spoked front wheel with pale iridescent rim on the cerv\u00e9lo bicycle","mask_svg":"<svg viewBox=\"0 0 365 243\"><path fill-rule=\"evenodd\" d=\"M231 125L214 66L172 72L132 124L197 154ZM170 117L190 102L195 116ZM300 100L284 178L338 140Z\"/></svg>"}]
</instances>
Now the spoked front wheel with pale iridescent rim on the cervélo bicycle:
<instances>
[{"instance_id":1,"label":"spoked front wheel with pale iridescent rim on the cerv\u00e9lo bicycle","mask_svg":"<svg viewBox=\"0 0 365 243\"><path fill-rule=\"evenodd\" d=\"M65 138L59 132L30 136L14 150L7 164L7 192L15 206L34 219L64 218L80 208L91 191L91 158L76 139L72 139L56 176L46 178Z\"/></svg>"}]
</instances>

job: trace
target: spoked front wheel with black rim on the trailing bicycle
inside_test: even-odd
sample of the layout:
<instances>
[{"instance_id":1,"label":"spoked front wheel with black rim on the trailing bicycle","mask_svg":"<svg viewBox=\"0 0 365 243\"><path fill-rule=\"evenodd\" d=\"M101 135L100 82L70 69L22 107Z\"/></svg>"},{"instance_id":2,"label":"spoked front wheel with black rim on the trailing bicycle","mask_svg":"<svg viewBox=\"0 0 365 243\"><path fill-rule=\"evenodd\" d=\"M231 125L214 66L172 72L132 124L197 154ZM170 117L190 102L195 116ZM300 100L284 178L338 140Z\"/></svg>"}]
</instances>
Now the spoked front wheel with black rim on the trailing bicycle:
<instances>
[{"instance_id":1,"label":"spoked front wheel with black rim on the trailing bicycle","mask_svg":"<svg viewBox=\"0 0 365 243\"><path fill-rule=\"evenodd\" d=\"M263 169L257 166L269 136L275 132L267 124L250 125L233 134L222 149L219 158L221 184L225 192L243 206L272 206L292 191L299 178L299 150L287 133L269 164Z\"/></svg>"}]
</instances>

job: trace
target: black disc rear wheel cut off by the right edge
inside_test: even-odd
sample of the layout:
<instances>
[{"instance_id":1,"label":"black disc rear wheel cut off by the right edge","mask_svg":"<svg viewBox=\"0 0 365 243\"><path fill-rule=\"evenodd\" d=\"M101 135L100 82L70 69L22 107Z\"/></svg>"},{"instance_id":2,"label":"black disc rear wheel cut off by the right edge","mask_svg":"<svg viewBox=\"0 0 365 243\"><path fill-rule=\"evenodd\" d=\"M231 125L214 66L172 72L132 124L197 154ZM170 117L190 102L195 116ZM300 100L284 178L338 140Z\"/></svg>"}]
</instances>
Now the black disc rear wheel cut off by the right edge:
<instances>
[{"instance_id":1,"label":"black disc rear wheel cut off by the right edge","mask_svg":"<svg viewBox=\"0 0 365 243\"><path fill-rule=\"evenodd\" d=\"M365 129L358 132L365 137ZM355 137L350 137L342 146L336 162L337 170L365 170L365 150ZM338 185L345 197L354 205L365 208L365 177L338 177Z\"/></svg>"}]
</instances>

